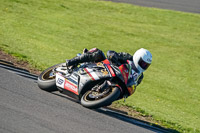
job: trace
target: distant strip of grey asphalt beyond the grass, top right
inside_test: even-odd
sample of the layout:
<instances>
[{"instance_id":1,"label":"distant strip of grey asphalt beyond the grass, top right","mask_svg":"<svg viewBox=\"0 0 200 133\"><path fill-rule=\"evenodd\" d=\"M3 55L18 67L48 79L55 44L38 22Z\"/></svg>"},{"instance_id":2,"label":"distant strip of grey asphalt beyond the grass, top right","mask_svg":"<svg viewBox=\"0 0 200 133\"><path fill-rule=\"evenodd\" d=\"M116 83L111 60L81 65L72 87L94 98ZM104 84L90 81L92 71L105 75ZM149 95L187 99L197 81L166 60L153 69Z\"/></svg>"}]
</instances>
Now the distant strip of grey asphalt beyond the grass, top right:
<instances>
[{"instance_id":1,"label":"distant strip of grey asphalt beyond the grass, top right","mask_svg":"<svg viewBox=\"0 0 200 133\"><path fill-rule=\"evenodd\" d=\"M200 13L200 0L106 0L134 5Z\"/></svg>"}]
</instances>

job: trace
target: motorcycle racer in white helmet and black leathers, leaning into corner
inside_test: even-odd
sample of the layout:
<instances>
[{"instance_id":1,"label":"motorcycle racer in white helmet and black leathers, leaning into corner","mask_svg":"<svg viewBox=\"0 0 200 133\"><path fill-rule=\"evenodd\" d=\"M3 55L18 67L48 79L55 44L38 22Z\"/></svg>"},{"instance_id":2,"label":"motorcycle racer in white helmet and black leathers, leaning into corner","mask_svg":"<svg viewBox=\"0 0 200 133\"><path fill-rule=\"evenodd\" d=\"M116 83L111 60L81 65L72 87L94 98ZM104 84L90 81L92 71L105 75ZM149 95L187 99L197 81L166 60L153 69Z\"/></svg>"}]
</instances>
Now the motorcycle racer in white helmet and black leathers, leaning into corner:
<instances>
[{"instance_id":1,"label":"motorcycle racer in white helmet and black leathers, leaning into corner","mask_svg":"<svg viewBox=\"0 0 200 133\"><path fill-rule=\"evenodd\" d=\"M98 48L84 49L83 54L80 56L66 60L66 66L74 66L84 62L100 62L105 59L104 53ZM152 62L152 54L144 48L137 50L133 56L125 52L108 51L107 59L117 66L127 65L127 68L129 68L127 87L129 94L132 95L144 77L143 72L147 70Z\"/></svg>"}]
</instances>

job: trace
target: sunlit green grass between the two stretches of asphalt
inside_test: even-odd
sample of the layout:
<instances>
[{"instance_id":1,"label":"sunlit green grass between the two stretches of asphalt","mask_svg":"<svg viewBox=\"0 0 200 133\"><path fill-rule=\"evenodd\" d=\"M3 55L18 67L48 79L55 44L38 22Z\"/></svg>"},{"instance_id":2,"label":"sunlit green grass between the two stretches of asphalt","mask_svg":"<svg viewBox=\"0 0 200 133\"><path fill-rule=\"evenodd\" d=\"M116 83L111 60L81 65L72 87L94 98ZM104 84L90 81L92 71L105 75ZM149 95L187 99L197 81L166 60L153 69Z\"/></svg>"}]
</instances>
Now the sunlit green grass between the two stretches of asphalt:
<instances>
[{"instance_id":1,"label":"sunlit green grass between the two stretches of asphalt","mask_svg":"<svg viewBox=\"0 0 200 133\"><path fill-rule=\"evenodd\" d=\"M153 63L125 105L181 132L199 132L199 14L95 0L0 1L4 51L44 69L85 47L149 49Z\"/></svg>"}]
</instances>

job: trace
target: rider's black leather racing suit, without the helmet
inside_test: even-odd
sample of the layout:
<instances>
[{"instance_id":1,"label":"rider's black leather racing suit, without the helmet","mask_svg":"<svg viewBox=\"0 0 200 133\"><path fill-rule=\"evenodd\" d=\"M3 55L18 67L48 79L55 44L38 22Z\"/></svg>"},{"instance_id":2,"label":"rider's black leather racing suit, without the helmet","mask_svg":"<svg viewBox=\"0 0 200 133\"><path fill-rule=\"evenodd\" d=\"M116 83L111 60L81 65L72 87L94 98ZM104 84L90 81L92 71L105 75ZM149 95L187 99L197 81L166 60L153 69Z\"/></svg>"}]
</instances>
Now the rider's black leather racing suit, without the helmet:
<instances>
[{"instance_id":1,"label":"rider's black leather racing suit, without the helmet","mask_svg":"<svg viewBox=\"0 0 200 133\"><path fill-rule=\"evenodd\" d=\"M84 53L82 55L74 57L71 60L67 60L66 65L71 66L71 65L83 63L83 62L100 62L105 59L106 57L104 53L97 48L93 48L89 51L87 49L84 49ZM115 51L108 51L107 59L110 60L114 65L120 66L122 64L128 64L127 60L133 61L133 56L125 52L117 53ZM134 63L132 63L131 68L134 70L134 73L131 75L129 79L130 82L128 81L129 83L127 85L132 86L134 84L134 86L137 86L140 84L140 82L143 79L143 73L140 73L136 69L136 67L134 66ZM134 75L137 75L137 80L135 80L136 78L134 78ZM131 83L133 81L135 83Z\"/></svg>"}]
</instances>

